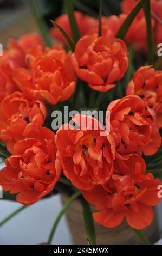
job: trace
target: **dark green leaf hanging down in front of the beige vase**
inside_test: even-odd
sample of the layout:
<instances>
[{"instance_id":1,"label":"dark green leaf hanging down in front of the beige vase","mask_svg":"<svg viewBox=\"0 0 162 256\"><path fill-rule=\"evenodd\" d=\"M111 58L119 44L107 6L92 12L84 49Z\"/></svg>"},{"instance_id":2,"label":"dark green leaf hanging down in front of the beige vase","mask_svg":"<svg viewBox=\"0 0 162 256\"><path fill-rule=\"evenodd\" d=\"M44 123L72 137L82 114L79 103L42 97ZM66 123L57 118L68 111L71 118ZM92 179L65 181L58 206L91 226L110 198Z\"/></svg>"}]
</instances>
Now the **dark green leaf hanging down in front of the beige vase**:
<instances>
[{"instance_id":1,"label":"dark green leaf hanging down in front of the beige vase","mask_svg":"<svg viewBox=\"0 0 162 256\"><path fill-rule=\"evenodd\" d=\"M87 241L90 243L90 245L95 245L96 237L92 211L90 209L89 203L83 197L81 197L80 202L83 209L83 219L85 222Z\"/></svg>"}]
</instances>

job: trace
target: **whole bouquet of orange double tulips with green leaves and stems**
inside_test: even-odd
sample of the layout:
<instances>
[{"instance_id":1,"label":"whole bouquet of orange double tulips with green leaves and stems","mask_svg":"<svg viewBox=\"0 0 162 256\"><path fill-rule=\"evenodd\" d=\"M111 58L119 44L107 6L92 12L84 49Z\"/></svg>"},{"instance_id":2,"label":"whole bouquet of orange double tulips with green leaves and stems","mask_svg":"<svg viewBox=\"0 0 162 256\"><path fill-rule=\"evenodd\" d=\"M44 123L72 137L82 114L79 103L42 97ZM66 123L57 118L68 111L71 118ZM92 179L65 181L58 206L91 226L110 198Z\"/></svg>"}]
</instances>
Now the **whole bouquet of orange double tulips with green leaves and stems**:
<instances>
[{"instance_id":1,"label":"whole bouquet of orange double tulips with green leaves and stems","mask_svg":"<svg viewBox=\"0 0 162 256\"><path fill-rule=\"evenodd\" d=\"M0 185L4 198L25 206L68 195L48 243L75 199L89 243L93 220L113 228L124 218L148 243L140 230L161 200L162 1L124 0L122 14L108 17L102 2L95 19L66 0L67 13L43 40L34 33L10 39L0 57ZM61 44L51 45L49 34ZM64 106L73 114L53 129ZM107 110L108 131L83 110Z\"/></svg>"}]
</instances>

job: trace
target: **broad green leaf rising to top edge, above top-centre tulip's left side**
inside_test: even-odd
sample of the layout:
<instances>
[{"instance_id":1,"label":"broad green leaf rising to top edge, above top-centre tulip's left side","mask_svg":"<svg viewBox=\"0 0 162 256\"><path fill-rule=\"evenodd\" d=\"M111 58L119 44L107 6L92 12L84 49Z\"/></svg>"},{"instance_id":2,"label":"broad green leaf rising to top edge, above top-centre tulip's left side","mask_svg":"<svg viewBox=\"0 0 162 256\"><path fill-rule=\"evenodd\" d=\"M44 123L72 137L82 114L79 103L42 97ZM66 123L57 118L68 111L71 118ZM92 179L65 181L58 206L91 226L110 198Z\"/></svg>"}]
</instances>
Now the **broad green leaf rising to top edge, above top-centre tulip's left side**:
<instances>
[{"instance_id":1,"label":"broad green leaf rising to top edge, above top-centre tulip's left side","mask_svg":"<svg viewBox=\"0 0 162 256\"><path fill-rule=\"evenodd\" d=\"M65 0L67 14L69 16L69 22L70 22L70 29L72 32L72 37L74 44L80 39L80 32L79 28L77 26L77 22L74 16L74 6L72 0Z\"/></svg>"}]
</instances>

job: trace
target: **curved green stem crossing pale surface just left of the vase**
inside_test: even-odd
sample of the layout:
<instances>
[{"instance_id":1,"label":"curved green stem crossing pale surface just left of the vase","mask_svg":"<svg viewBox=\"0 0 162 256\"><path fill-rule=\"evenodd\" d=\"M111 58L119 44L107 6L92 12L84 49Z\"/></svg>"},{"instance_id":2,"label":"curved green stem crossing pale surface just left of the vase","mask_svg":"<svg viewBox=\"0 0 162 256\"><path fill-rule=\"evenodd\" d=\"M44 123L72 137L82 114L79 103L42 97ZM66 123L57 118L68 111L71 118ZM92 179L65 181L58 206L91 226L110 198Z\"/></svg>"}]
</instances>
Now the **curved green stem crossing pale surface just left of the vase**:
<instances>
[{"instance_id":1,"label":"curved green stem crossing pale surface just left of the vase","mask_svg":"<svg viewBox=\"0 0 162 256\"><path fill-rule=\"evenodd\" d=\"M54 225L53 225L53 227L52 227L52 229L51 229L51 231L50 231L50 235L49 235L49 237L48 237L47 243L49 243L49 244L51 243L51 241L52 241L52 239L53 239L53 236L54 236L54 234L55 234L57 225L59 224L59 221L61 220L61 217L64 215L64 213L66 212L66 210L68 209L68 207L70 206L70 204L72 204L73 201L74 201L77 197L81 196L81 194L82 194L81 191L76 191L76 192L73 194L73 196L70 197L69 200L63 205L63 208L62 208L62 210L59 212L59 214L57 215L56 220L55 220L55 222L54 222Z\"/></svg>"}]
</instances>

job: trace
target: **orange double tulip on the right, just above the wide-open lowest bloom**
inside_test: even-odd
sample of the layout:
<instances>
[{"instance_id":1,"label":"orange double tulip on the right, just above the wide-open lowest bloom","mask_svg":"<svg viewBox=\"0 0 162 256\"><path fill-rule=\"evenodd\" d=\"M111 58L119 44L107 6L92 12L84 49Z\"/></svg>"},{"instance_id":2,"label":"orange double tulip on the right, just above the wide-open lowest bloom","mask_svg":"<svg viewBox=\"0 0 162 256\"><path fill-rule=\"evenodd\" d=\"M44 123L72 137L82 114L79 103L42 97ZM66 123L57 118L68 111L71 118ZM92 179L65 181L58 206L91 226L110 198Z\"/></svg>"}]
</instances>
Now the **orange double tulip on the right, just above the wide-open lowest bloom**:
<instances>
[{"instance_id":1,"label":"orange double tulip on the right, just above the wide-open lowest bloom","mask_svg":"<svg viewBox=\"0 0 162 256\"><path fill-rule=\"evenodd\" d=\"M155 112L145 108L139 96L126 96L112 101L108 108L111 117L111 135L116 143L116 158L129 153L152 155L161 145L159 129L155 126Z\"/></svg>"}]
</instances>

